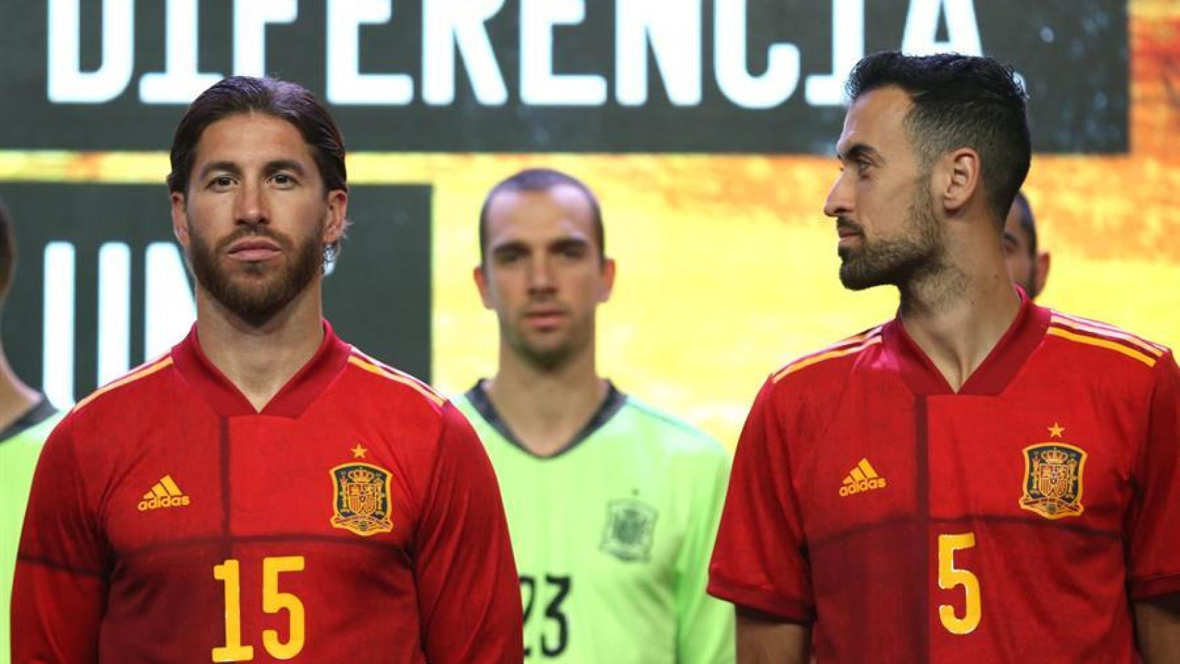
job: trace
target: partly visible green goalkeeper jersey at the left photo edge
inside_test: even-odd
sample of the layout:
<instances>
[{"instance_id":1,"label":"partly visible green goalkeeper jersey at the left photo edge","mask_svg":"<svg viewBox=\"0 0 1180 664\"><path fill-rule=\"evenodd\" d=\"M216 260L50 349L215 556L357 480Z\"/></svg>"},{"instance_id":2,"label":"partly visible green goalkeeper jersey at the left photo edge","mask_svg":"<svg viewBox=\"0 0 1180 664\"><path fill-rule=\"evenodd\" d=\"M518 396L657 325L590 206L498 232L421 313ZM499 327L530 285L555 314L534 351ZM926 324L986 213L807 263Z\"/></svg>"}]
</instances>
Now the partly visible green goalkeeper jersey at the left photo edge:
<instances>
[{"instance_id":1,"label":"partly visible green goalkeeper jersey at the left photo edge","mask_svg":"<svg viewBox=\"0 0 1180 664\"><path fill-rule=\"evenodd\" d=\"M48 400L41 401L0 432L0 664L12 656L8 629L12 620L12 571L17 565L25 504L41 446L61 418Z\"/></svg>"}]
</instances>

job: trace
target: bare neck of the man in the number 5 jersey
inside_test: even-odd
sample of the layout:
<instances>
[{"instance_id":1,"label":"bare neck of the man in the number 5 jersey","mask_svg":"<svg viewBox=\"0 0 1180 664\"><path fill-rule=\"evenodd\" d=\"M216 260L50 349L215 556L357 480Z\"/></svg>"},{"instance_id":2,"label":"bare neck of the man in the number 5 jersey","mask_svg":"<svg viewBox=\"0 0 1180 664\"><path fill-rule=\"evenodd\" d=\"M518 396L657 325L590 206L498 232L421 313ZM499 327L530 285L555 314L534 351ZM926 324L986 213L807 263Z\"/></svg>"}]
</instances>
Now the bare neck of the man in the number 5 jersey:
<instances>
[{"instance_id":1,"label":"bare neck of the man in the number 5 jersey","mask_svg":"<svg viewBox=\"0 0 1180 664\"><path fill-rule=\"evenodd\" d=\"M905 331L958 392L996 347L1020 311L1020 296L1003 263L946 261L898 288Z\"/></svg>"}]
</instances>

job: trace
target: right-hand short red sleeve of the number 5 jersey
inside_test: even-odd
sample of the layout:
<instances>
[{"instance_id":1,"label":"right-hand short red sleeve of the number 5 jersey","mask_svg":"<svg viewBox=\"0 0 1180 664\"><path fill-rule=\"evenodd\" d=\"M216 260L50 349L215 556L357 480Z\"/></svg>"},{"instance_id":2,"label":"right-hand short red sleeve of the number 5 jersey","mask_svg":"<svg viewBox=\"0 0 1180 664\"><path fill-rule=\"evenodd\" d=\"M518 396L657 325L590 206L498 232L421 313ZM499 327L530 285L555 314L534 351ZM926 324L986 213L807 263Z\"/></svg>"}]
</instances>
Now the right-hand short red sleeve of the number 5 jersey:
<instances>
[{"instance_id":1,"label":"right-hand short red sleeve of the number 5 jersey","mask_svg":"<svg viewBox=\"0 0 1180 664\"><path fill-rule=\"evenodd\" d=\"M1130 597L1180 593L1180 369L1167 353L1155 367L1148 435L1136 472L1128 557Z\"/></svg>"}]
</instances>

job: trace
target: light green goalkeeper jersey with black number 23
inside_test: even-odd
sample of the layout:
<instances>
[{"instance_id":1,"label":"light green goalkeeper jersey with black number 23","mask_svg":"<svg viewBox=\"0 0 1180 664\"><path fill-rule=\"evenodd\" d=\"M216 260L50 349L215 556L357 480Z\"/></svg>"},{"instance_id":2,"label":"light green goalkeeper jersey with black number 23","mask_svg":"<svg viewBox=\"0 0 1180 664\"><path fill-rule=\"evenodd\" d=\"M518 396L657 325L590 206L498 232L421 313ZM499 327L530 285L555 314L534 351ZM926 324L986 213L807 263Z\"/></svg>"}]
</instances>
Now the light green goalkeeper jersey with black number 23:
<instances>
[{"instance_id":1,"label":"light green goalkeeper jersey with black number 23","mask_svg":"<svg viewBox=\"0 0 1180 664\"><path fill-rule=\"evenodd\" d=\"M453 401L499 479L525 662L734 660L733 606L704 592L729 478L721 445L610 386L575 440L542 458L481 384Z\"/></svg>"}]
</instances>

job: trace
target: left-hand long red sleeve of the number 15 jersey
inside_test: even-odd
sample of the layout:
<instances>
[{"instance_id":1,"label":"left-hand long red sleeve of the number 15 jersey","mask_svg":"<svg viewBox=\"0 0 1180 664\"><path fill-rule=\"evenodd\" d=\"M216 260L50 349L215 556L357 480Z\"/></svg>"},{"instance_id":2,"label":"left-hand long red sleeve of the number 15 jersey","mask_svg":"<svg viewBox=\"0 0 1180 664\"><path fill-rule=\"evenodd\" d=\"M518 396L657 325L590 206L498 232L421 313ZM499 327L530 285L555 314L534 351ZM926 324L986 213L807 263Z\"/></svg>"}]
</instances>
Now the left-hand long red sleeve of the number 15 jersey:
<instances>
[{"instance_id":1,"label":"left-hand long red sleeve of the number 15 jersey","mask_svg":"<svg viewBox=\"0 0 1180 664\"><path fill-rule=\"evenodd\" d=\"M87 499L73 421L50 435L33 475L12 598L13 662L98 662L107 547Z\"/></svg>"}]
</instances>

